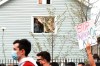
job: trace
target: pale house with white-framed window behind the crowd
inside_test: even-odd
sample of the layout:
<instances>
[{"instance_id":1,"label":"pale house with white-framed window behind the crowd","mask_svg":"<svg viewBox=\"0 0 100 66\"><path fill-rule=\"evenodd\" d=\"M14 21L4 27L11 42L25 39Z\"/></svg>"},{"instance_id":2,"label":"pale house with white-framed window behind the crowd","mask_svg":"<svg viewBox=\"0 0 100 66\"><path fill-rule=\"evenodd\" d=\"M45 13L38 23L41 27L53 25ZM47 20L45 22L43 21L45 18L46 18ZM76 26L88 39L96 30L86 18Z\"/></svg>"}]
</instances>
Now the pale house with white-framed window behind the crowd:
<instances>
[{"instance_id":1,"label":"pale house with white-framed window behind the crowd","mask_svg":"<svg viewBox=\"0 0 100 66\"><path fill-rule=\"evenodd\" d=\"M30 56L34 58L39 51L49 51L54 59L86 58L85 51L79 50L74 29L75 24L81 22L78 16L79 2L76 0L50 0L49 4L45 2L39 4L37 0L0 1L0 27L6 27L4 32L0 29L0 59L4 59L4 52L5 57L11 59L13 41L22 38L31 41ZM49 16L53 16L54 29L51 32L54 33L50 31L46 33L45 28L41 33L34 33L34 18L44 20L42 22L44 26Z\"/></svg>"}]
</instances>

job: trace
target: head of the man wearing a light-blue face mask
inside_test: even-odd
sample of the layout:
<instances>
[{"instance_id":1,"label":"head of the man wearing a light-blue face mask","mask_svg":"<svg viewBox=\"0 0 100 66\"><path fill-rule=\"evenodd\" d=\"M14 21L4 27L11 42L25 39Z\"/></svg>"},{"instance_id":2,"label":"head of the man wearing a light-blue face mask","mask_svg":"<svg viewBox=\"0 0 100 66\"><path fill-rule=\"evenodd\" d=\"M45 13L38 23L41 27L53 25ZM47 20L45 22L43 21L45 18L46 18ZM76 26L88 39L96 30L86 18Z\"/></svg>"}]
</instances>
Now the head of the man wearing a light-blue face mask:
<instances>
[{"instance_id":1,"label":"head of the man wearing a light-blue face mask","mask_svg":"<svg viewBox=\"0 0 100 66\"><path fill-rule=\"evenodd\" d=\"M15 40L13 42L13 54L12 57L20 60L23 57L27 57L31 51L31 43L27 39Z\"/></svg>"}]
</instances>

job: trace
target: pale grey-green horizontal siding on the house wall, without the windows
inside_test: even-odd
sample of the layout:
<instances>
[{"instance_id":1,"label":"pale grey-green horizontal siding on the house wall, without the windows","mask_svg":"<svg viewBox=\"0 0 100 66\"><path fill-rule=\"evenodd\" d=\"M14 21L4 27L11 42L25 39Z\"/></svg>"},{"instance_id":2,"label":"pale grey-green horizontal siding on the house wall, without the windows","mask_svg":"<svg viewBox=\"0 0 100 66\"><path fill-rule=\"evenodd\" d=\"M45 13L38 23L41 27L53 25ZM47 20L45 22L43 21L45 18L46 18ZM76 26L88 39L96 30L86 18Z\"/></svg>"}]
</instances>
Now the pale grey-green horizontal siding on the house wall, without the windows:
<instances>
[{"instance_id":1,"label":"pale grey-green horizontal siding on the house wall, without the windows","mask_svg":"<svg viewBox=\"0 0 100 66\"><path fill-rule=\"evenodd\" d=\"M80 51L75 35L74 27L72 26L72 17L70 16L68 8L72 8L70 4L77 2L73 0L52 0L52 4L36 4L36 0L10 0L9 2L0 6L0 27L6 27L4 31L4 47L6 58L11 58L11 51L13 41L16 39L27 38L32 43L32 51L30 56L36 56L40 50L47 50L52 54L51 44L52 37L45 34L35 34L34 38L30 35L31 32L31 17L50 15L47 8L54 9L54 16L61 15L64 11L66 13L60 18L64 19L62 25L55 35L54 39L54 58L86 58L85 51ZM71 13L71 12L70 12ZM72 13L71 13L72 14ZM74 15L72 15L74 16ZM59 19L59 20L60 20ZM76 17L76 23L78 23ZM58 27L60 24L58 25ZM0 57L4 58L2 52L2 34L0 29ZM47 41L48 40L48 41ZM39 43L39 44L38 44Z\"/></svg>"}]
</instances>

